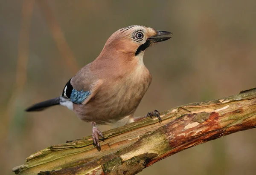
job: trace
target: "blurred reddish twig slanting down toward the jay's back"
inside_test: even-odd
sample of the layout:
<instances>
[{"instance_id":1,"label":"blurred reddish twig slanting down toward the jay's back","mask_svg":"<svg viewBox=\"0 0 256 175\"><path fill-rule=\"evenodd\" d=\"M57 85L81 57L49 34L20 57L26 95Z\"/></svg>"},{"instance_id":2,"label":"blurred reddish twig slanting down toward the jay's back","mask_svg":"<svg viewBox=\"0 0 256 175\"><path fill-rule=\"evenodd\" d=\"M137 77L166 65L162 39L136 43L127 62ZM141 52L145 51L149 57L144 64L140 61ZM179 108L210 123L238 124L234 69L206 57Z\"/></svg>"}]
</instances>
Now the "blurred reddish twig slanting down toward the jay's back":
<instances>
[{"instance_id":1,"label":"blurred reddish twig slanting down toward the jay's back","mask_svg":"<svg viewBox=\"0 0 256 175\"><path fill-rule=\"evenodd\" d=\"M76 74L76 72L79 70L79 67L77 66L77 61L75 57L73 57L73 54L71 52L71 49L69 45L67 44L67 41L64 37L64 34L61 30L61 27L58 25L57 20L55 19L55 16L49 7L46 0L38 0L36 1L38 3L39 8L41 9L42 13L44 14L44 17L48 23L48 26L52 32L52 36L55 40L55 43L64 58L67 68L70 69L71 73L73 75Z\"/></svg>"}]
</instances>

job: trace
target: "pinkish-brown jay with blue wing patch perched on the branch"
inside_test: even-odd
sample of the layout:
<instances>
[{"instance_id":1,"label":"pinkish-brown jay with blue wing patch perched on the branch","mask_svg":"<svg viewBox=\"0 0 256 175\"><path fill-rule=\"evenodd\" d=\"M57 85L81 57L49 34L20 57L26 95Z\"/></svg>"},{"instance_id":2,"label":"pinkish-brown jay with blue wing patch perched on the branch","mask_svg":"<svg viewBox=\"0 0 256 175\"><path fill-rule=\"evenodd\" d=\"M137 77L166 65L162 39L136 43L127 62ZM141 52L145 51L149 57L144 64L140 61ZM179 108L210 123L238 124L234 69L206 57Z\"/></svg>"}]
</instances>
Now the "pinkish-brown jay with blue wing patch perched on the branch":
<instances>
[{"instance_id":1,"label":"pinkish-brown jay with blue wing patch perched on the branch","mask_svg":"<svg viewBox=\"0 0 256 175\"><path fill-rule=\"evenodd\" d=\"M146 26L128 26L114 32L99 56L82 67L64 86L61 96L36 103L27 112L41 111L61 105L91 123L93 145L100 151L97 125L115 123L128 118L129 123L146 117L159 118L157 110L140 118L134 112L147 91L152 76L143 63L145 50L155 43L168 40L171 32Z\"/></svg>"}]
</instances>

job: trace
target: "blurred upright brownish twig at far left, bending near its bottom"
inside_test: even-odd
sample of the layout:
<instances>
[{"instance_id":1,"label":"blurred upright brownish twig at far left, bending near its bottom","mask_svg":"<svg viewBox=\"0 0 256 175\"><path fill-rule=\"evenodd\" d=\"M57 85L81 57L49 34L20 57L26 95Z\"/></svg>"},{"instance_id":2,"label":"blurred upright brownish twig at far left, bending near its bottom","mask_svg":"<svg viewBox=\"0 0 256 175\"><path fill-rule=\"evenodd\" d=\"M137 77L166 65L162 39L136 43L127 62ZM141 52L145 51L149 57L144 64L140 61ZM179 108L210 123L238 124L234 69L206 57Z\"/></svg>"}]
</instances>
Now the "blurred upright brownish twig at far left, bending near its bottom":
<instances>
[{"instance_id":1,"label":"blurred upright brownish twig at far left, bending near its bottom","mask_svg":"<svg viewBox=\"0 0 256 175\"><path fill-rule=\"evenodd\" d=\"M17 69L16 81L11 98L9 99L5 112L6 126L9 126L11 120L13 107L15 106L15 99L20 97L23 92L27 80L27 64L29 59L29 29L31 17L33 13L34 0L24 0L22 6L22 14L20 21L20 33L18 40L18 56L17 56ZM5 134L3 134L5 135Z\"/></svg>"}]
</instances>

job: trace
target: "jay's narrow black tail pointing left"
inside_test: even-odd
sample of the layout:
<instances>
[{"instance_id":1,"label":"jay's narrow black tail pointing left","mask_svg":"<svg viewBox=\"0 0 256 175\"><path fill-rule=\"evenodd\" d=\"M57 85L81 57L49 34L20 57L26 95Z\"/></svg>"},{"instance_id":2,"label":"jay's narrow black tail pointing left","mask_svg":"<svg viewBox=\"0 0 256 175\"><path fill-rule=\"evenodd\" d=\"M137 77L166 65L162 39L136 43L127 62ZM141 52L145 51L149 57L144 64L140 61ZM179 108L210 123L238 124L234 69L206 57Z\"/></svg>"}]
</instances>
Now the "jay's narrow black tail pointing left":
<instances>
[{"instance_id":1,"label":"jay's narrow black tail pointing left","mask_svg":"<svg viewBox=\"0 0 256 175\"><path fill-rule=\"evenodd\" d=\"M41 111L44 110L50 106L58 105L61 102L61 97L52 98L50 100L46 100L40 103L36 103L29 108L26 109L27 112L30 111Z\"/></svg>"}]
</instances>

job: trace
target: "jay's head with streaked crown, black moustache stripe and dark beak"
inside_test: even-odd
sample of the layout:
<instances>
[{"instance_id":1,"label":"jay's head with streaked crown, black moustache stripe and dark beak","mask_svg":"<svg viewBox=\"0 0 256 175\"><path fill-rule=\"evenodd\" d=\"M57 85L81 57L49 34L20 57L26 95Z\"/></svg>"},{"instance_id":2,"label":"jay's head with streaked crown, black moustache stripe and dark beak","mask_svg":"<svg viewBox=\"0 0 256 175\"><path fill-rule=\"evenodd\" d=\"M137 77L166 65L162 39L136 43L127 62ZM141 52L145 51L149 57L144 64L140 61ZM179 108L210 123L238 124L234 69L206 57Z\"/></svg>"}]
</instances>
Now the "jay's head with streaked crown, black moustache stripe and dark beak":
<instances>
[{"instance_id":1,"label":"jay's head with streaked crown, black moustache stripe and dark beak","mask_svg":"<svg viewBox=\"0 0 256 175\"><path fill-rule=\"evenodd\" d=\"M122 54L140 56L152 44L170 39L171 34L145 26L128 26L114 32L107 40L105 49L113 48Z\"/></svg>"}]
</instances>

